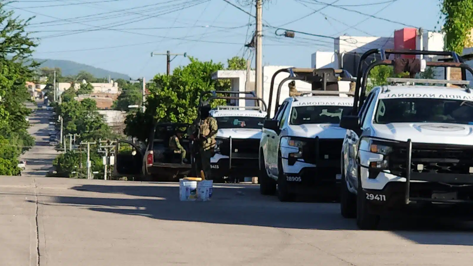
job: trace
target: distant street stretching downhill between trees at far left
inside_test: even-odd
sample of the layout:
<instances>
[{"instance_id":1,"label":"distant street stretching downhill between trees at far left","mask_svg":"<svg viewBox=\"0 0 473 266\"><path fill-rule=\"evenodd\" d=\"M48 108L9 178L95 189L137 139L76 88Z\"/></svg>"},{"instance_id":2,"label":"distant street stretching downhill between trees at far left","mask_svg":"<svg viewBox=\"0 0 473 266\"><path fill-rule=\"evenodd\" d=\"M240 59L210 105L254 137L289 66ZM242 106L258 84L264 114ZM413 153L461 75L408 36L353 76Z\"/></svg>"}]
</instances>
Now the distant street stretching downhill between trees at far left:
<instances>
[{"instance_id":1,"label":"distant street stretching downhill between trees at far left","mask_svg":"<svg viewBox=\"0 0 473 266\"><path fill-rule=\"evenodd\" d=\"M46 109L38 109L28 117L31 124L28 133L35 137L36 144L21 156L20 160L26 160L26 169L22 171L22 175L44 177L53 168L53 160L58 152L53 146L49 146L49 131L54 129L54 126L49 124L51 113L52 111Z\"/></svg>"}]
</instances>

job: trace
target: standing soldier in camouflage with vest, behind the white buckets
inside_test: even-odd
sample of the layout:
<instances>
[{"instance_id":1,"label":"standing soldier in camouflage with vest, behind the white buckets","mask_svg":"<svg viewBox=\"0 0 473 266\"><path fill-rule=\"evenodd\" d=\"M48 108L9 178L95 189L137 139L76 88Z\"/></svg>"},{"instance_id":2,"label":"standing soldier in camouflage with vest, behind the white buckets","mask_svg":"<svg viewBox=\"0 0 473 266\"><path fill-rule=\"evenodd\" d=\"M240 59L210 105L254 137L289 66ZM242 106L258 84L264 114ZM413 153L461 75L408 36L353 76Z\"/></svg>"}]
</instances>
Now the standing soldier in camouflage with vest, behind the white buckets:
<instances>
[{"instance_id":1,"label":"standing soldier in camouflage with vest, behind the white buckets","mask_svg":"<svg viewBox=\"0 0 473 266\"><path fill-rule=\"evenodd\" d=\"M218 126L217 120L209 115L210 105L201 107L201 121L199 123L199 159L197 164L198 173L200 170L204 171L206 179L210 177L210 158L213 156L213 149L215 144L215 137L217 135Z\"/></svg>"}]
</instances>

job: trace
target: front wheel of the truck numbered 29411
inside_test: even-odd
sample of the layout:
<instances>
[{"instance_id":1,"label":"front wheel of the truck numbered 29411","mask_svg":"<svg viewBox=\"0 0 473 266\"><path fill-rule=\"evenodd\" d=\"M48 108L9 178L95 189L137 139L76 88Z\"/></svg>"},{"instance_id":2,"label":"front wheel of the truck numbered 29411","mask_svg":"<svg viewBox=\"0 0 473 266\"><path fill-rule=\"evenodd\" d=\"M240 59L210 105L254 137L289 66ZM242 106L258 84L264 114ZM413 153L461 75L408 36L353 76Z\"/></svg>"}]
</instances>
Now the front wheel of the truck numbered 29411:
<instances>
[{"instance_id":1,"label":"front wheel of the truck numbered 29411","mask_svg":"<svg viewBox=\"0 0 473 266\"><path fill-rule=\"evenodd\" d=\"M359 172L358 172L359 173ZM358 193L357 193L357 212L356 224L361 230L376 230L379 224L379 215L369 213L369 202L361 188L361 180L358 178Z\"/></svg>"}]
</instances>

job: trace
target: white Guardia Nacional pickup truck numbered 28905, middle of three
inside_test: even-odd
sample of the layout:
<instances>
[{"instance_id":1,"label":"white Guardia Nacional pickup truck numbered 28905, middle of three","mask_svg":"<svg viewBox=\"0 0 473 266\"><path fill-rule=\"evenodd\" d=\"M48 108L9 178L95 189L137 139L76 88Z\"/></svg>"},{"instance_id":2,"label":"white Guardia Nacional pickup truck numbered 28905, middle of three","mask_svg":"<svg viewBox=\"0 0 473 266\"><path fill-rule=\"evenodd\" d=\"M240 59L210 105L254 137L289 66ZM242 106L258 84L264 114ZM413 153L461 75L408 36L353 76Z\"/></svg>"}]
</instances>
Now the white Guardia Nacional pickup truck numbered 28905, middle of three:
<instances>
[{"instance_id":1,"label":"white Guardia Nacional pickup truck numbered 28905, middle of three","mask_svg":"<svg viewBox=\"0 0 473 266\"><path fill-rule=\"evenodd\" d=\"M317 71L299 73L311 75L304 81L327 83L327 80L317 79ZM294 75L291 74L280 85L300 77L298 71L291 72ZM338 91L341 78L333 75L336 73L333 69L322 72L332 72L329 83L334 86L331 86L331 91L299 92L297 97L286 98L277 106L274 117L264 122L259 145L258 180L263 195L274 194L276 189L280 201L292 201L297 194L321 195L330 191L330 195L336 195L333 190L340 182L340 151L345 136L345 130L339 127L339 123L343 115L351 112L353 99L348 97L352 94L349 91ZM322 85L325 89L327 84Z\"/></svg>"}]
</instances>

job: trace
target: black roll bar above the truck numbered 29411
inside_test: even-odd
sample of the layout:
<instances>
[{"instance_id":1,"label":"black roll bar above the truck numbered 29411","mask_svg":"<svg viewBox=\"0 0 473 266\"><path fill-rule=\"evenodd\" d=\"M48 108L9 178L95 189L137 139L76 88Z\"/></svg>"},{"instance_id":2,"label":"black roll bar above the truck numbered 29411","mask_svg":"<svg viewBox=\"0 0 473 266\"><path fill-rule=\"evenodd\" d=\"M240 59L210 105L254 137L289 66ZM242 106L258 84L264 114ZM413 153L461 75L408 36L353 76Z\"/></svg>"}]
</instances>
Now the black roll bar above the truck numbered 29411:
<instances>
[{"instance_id":1,"label":"black roll bar above the truck numbered 29411","mask_svg":"<svg viewBox=\"0 0 473 266\"><path fill-rule=\"evenodd\" d=\"M368 65L368 68L363 71L363 63L368 58L368 56L372 54L379 53L381 55L382 60L378 60L372 62ZM387 56L386 56L387 54ZM391 54L409 54L409 55L438 55L438 56L451 56L451 60L454 62L426 62L427 66L431 67L456 67L462 69L462 80L466 80L466 70L472 72L473 70L470 66L463 63L463 58L461 58L455 52L449 51L419 51L419 50L393 50L393 49L371 49L368 50L366 53L361 55L360 60L358 62L358 70L357 70L357 80L356 80L356 87L355 87L355 96L353 99L353 109L352 115L358 115L358 109L360 106L363 105L365 100L365 92L366 92L366 84L368 82L368 73L371 71L375 66L378 65L393 65L392 60L387 60L386 58L389 57ZM452 82L453 84L454 82ZM361 90L361 94L360 94Z\"/></svg>"}]
</instances>

